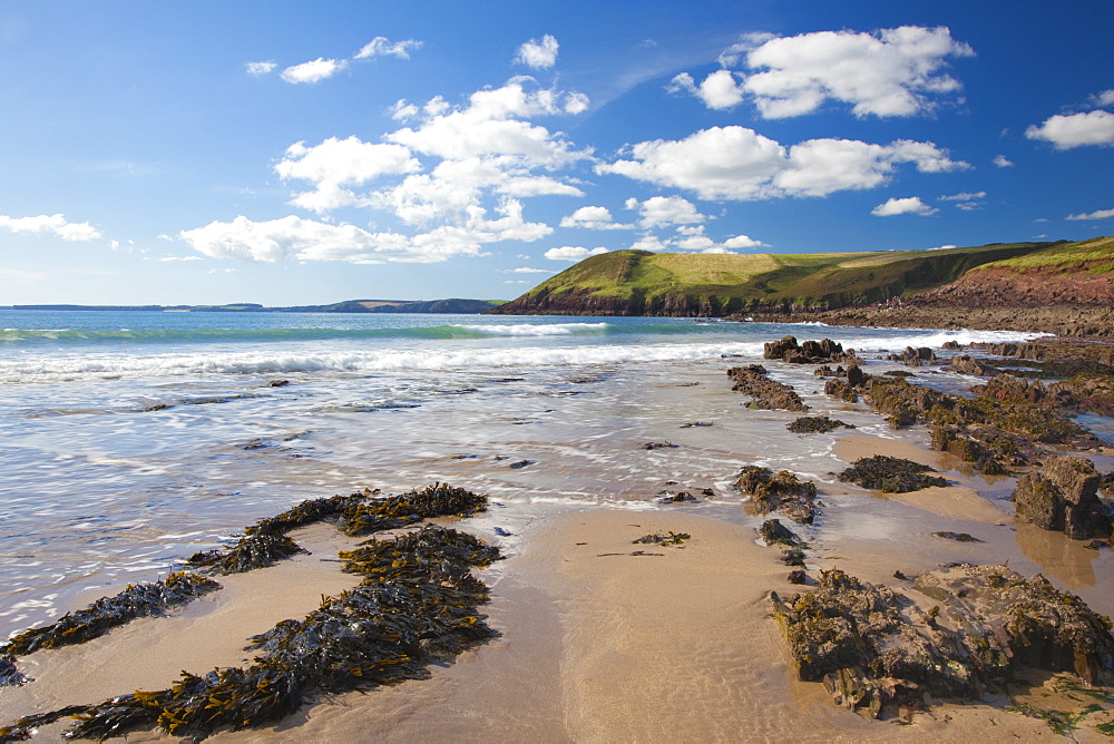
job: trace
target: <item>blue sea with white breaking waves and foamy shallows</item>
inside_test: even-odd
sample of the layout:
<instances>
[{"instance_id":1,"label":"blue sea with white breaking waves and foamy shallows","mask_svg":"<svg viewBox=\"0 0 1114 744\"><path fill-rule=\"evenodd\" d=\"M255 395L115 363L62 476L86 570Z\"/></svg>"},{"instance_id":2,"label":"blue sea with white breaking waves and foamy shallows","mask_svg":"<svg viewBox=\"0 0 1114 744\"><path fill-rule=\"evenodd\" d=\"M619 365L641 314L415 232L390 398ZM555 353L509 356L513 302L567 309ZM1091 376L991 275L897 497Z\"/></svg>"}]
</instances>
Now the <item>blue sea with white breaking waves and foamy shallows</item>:
<instances>
[{"instance_id":1,"label":"blue sea with white breaking waves and foamy shallows","mask_svg":"<svg viewBox=\"0 0 1114 744\"><path fill-rule=\"evenodd\" d=\"M885 365L887 351L906 346L1038 334L0 311L0 637L164 577L303 499L363 489L486 492L483 519L509 551L554 510L657 509L682 491L705 513L752 519L732 487L741 467L823 483L839 466L832 437L791 434L784 423L798 414L753 410L731 392L726 370L761 362L764 342L784 335L830 337ZM866 407L828 400L812 366L768 364L815 411L836 411L858 433L899 435ZM956 390L974 382L936 376ZM902 539L896 528L892 539Z\"/></svg>"}]
</instances>

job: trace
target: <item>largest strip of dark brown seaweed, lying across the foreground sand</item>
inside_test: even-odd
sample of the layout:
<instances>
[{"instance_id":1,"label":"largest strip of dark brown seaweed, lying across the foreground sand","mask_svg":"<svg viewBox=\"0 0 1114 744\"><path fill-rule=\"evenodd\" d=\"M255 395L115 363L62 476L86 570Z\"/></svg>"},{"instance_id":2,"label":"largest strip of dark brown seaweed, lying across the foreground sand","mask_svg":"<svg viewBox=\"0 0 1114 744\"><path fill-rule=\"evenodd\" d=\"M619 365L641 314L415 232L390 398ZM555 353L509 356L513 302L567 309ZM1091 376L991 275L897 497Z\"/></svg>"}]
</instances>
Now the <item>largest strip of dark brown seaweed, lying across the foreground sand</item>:
<instances>
[{"instance_id":1,"label":"largest strip of dark brown seaweed, lying across the foreground sand","mask_svg":"<svg viewBox=\"0 0 1114 744\"><path fill-rule=\"evenodd\" d=\"M496 548L441 527L370 540L341 554L345 570L364 580L325 598L305 619L283 620L252 638L260 652L252 666L184 673L168 689L90 706L67 735L106 738L157 725L205 737L221 727L278 721L319 691L426 678L430 664L497 635L477 611L488 593L471 569L498 557Z\"/></svg>"}]
</instances>

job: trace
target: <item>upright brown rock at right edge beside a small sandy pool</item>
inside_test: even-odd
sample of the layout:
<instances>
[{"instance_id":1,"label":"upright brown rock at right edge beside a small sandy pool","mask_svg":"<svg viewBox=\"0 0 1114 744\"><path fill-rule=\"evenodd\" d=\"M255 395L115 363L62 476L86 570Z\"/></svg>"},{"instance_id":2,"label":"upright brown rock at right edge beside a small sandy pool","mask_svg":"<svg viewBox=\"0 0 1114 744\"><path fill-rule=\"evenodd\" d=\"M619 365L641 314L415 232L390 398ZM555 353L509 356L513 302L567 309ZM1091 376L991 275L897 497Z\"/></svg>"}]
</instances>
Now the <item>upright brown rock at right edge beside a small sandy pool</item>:
<instances>
[{"instance_id":1,"label":"upright brown rock at right edge beside a small sandy pool","mask_svg":"<svg viewBox=\"0 0 1114 744\"><path fill-rule=\"evenodd\" d=\"M1017 516L1075 540L1107 537L1111 520L1098 499L1102 476L1091 460L1049 458L1039 472L1022 476L1012 496Z\"/></svg>"}]
</instances>

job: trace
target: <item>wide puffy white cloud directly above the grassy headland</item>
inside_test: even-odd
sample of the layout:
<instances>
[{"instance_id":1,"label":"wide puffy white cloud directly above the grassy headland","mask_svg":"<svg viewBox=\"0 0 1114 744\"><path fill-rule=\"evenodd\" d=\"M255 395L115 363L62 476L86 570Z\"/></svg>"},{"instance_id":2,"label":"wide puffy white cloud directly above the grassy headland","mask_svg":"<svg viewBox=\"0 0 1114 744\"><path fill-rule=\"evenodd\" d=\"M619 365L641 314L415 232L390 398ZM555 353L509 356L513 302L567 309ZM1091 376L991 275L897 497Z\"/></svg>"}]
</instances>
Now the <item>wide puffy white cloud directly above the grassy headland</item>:
<instances>
[{"instance_id":1,"label":"wide puffy white cloud directly above the grassy headland","mask_svg":"<svg viewBox=\"0 0 1114 744\"><path fill-rule=\"evenodd\" d=\"M921 173L969 168L932 143L899 139L872 145L848 139L811 139L791 148L739 126L702 129L682 140L638 143L627 159L599 164L596 173L618 174L659 186L695 192L705 199L751 200L778 196L827 196L889 183L899 164Z\"/></svg>"}]
</instances>

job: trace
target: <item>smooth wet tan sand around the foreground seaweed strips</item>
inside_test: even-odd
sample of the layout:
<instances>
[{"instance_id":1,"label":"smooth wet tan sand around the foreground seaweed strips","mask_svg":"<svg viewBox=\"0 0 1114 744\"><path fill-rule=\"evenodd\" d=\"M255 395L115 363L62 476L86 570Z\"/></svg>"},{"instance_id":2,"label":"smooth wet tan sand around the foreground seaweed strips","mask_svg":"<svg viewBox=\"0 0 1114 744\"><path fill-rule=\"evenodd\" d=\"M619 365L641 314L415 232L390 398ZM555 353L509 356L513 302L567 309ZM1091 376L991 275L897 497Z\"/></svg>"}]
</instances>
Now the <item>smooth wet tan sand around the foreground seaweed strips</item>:
<instances>
[{"instance_id":1,"label":"smooth wet tan sand around the foreground seaweed strips","mask_svg":"<svg viewBox=\"0 0 1114 744\"><path fill-rule=\"evenodd\" d=\"M319 549L329 529L313 528ZM668 530L692 539L632 542ZM1043 722L1005 713L1001 703L939 706L899 726L837 708L821 685L795 682L769 603L771 589L788 595L795 587L779 551L762 547L749 527L676 511L564 512L535 522L525 545L498 569L489 613L500 638L434 667L428 681L325 697L276 726L211 741L1051 738ZM295 586L332 583L338 590L352 583L322 557L232 577L243 580L226 580L211 607L199 600L174 618L28 657L39 679L0 694L4 719L30 712L32 699L35 709L48 709L163 687L182 666L241 663L246 635L315 606L315 598L295 598ZM281 609L261 605L276 597ZM63 728L45 727L35 741L60 741ZM129 736L162 738L173 740Z\"/></svg>"}]
</instances>

